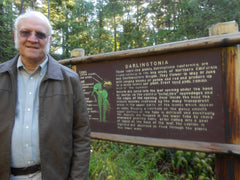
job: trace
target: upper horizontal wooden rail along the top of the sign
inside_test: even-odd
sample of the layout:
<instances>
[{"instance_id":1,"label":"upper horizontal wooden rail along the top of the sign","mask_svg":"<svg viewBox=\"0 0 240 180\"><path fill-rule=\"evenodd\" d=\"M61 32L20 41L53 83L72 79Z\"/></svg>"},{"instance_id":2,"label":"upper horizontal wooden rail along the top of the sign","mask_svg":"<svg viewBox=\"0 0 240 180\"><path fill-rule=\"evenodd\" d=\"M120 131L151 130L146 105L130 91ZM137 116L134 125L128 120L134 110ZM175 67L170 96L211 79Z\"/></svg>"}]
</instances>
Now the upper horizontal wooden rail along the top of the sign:
<instances>
[{"instance_id":1,"label":"upper horizontal wooden rail along the top of the sign","mask_svg":"<svg viewBox=\"0 0 240 180\"><path fill-rule=\"evenodd\" d=\"M110 53L102 53L91 56L75 57L60 60L61 64L79 64L91 63L96 61L119 60L123 58L142 57L156 54L164 54L170 52L187 51L194 49L206 49L214 47L227 47L240 44L240 33L230 33L217 36L208 36L192 40L177 41L165 43L155 46L148 46L143 48L136 48L130 50L123 50Z\"/></svg>"}]
</instances>

